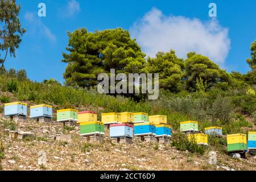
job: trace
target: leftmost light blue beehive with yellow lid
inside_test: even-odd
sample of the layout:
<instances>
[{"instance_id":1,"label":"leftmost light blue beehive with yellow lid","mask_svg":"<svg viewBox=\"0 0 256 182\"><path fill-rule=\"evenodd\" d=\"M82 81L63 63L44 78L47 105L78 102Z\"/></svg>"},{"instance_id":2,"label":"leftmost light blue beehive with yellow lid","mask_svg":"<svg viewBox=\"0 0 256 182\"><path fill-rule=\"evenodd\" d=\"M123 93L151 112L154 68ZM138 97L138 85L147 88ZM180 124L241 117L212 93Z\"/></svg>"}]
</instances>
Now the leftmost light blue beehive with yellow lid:
<instances>
[{"instance_id":1,"label":"leftmost light blue beehive with yellow lid","mask_svg":"<svg viewBox=\"0 0 256 182\"><path fill-rule=\"evenodd\" d=\"M27 104L22 102L11 102L5 104L5 117L14 115L27 115Z\"/></svg>"}]
</instances>

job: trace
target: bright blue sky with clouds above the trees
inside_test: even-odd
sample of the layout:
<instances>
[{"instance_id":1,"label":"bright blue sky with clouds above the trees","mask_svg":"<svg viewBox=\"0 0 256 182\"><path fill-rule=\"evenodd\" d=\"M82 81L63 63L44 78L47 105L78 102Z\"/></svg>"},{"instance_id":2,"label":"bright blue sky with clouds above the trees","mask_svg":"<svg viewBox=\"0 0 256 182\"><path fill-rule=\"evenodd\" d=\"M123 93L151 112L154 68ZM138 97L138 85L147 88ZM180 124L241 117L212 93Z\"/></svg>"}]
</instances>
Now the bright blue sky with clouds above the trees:
<instances>
[{"instance_id":1,"label":"bright blue sky with clouds above the trees","mask_svg":"<svg viewBox=\"0 0 256 182\"><path fill-rule=\"evenodd\" d=\"M184 57L191 48L210 56L228 72L249 71L246 59L250 57L250 43L256 40L254 0L17 2L22 6L20 22L27 33L16 58L6 61L6 68L26 69L31 80L64 81L66 64L61 59L68 44L67 31L79 27L89 31L122 27L132 32L147 55L176 48L177 55ZM38 16L40 2L46 4L46 17ZM210 2L217 5L214 20L208 15Z\"/></svg>"}]
</instances>

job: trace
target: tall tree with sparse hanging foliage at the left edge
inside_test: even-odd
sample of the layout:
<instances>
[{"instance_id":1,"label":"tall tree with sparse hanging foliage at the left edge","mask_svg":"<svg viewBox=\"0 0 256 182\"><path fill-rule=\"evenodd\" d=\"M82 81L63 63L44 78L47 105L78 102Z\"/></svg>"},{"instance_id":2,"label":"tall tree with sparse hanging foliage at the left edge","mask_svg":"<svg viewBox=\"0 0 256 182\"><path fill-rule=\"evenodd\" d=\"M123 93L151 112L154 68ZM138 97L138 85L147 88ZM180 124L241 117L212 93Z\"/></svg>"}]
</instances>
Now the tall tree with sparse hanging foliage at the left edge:
<instances>
[{"instance_id":1,"label":"tall tree with sparse hanging foliage at the left edge","mask_svg":"<svg viewBox=\"0 0 256 182\"><path fill-rule=\"evenodd\" d=\"M8 52L15 57L15 49L22 41L20 36L26 32L19 22L19 10L20 5L16 5L15 0L0 1L0 69L5 69Z\"/></svg>"}]
</instances>

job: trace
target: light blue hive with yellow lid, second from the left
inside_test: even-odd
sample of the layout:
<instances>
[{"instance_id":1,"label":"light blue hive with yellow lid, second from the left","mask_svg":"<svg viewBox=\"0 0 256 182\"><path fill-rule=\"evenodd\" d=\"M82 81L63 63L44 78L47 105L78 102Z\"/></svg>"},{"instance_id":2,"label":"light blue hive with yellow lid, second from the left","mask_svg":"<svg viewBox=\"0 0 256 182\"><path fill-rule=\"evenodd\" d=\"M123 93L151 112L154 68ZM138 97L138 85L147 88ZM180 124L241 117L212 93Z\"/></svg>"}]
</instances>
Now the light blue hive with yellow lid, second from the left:
<instances>
[{"instance_id":1,"label":"light blue hive with yellow lid, second from the left","mask_svg":"<svg viewBox=\"0 0 256 182\"><path fill-rule=\"evenodd\" d=\"M30 118L52 118L52 106L41 104L30 107Z\"/></svg>"}]
</instances>

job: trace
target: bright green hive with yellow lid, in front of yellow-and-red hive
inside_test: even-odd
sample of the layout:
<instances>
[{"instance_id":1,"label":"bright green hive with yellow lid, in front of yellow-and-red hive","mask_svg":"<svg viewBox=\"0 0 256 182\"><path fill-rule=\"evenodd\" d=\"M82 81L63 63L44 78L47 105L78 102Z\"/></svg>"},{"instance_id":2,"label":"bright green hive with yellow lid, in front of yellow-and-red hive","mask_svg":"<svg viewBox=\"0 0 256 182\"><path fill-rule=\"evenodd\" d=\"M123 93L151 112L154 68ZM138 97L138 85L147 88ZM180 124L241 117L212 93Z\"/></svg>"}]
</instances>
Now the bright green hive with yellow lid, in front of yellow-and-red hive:
<instances>
[{"instance_id":1,"label":"bright green hive with yellow lid, in front of yellow-and-red hive","mask_svg":"<svg viewBox=\"0 0 256 182\"><path fill-rule=\"evenodd\" d=\"M104 135L104 124L99 121L77 122L80 125L80 135L89 136L94 134Z\"/></svg>"}]
</instances>

